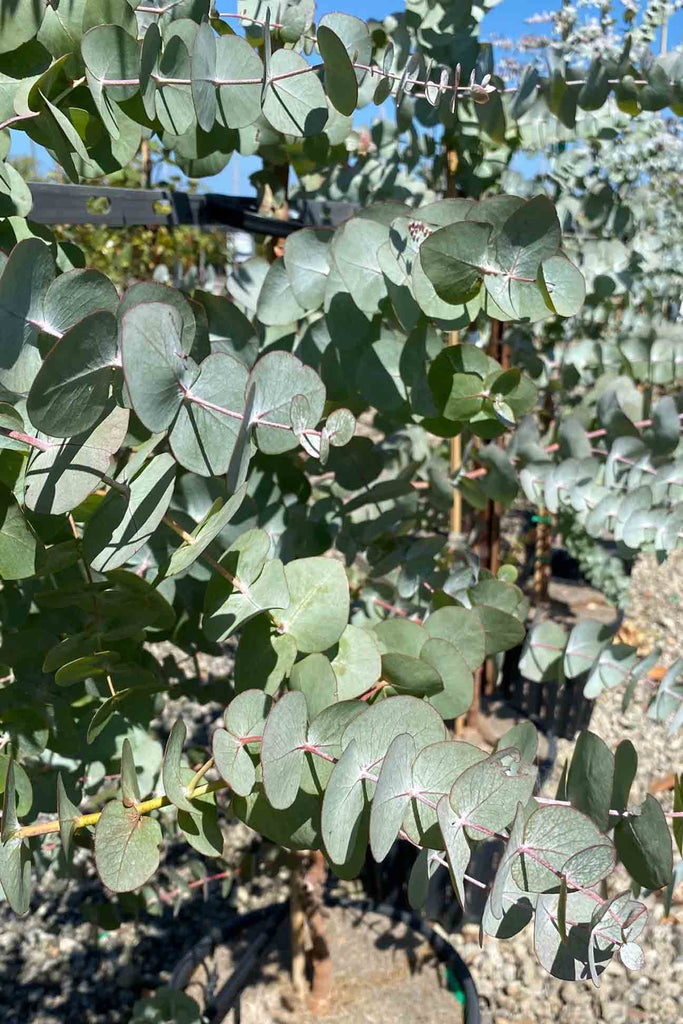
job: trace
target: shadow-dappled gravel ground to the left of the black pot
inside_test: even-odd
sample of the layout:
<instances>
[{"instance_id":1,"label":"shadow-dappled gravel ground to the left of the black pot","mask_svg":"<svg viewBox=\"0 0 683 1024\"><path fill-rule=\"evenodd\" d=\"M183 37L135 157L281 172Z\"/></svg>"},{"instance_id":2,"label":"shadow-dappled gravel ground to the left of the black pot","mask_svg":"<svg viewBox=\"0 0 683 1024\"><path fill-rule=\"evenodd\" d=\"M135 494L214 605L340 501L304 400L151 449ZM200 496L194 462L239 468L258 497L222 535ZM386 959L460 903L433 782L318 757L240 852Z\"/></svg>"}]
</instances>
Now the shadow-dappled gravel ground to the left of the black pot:
<instances>
[{"instance_id":1,"label":"shadow-dappled gravel ground to the left of the black pot","mask_svg":"<svg viewBox=\"0 0 683 1024\"><path fill-rule=\"evenodd\" d=\"M0 1022L2 1024L127 1024L134 1001L168 982L181 953L203 939L217 939L226 916L266 906L286 896L287 872L273 864L272 848L254 843L240 822L223 827L225 859L249 862L249 881L238 882L226 901L217 884L189 898L164 902L159 916L126 921L116 931L83 922L86 901L102 901L90 855L77 855L79 878L65 881L48 871L34 895L31 912L17 919L0 903ZM182 864L185 844L171 846L167 859ZM214 862L207 861L212 869ZM165 889L171 889L166 882Z\"/></svg>"}]
</instances>

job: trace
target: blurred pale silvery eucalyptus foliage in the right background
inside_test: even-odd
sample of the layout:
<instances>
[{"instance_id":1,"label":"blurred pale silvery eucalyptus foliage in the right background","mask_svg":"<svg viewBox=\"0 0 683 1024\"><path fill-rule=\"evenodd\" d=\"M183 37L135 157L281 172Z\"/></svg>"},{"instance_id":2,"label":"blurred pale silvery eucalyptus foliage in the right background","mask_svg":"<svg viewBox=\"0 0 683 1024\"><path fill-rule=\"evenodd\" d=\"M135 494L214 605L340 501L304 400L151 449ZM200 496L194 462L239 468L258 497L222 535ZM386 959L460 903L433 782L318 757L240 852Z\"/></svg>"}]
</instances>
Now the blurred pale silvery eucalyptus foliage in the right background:
<instances>
[{"instance_id":1,"label":"blurred pale silvery eucalyptus foliage in the right background","mask_svg":"<svg viewBox=\"0 0 683 1024\"><path fill-rule=\"evenodd\" d=\"M546 451L528 450L521 486L528 500L559 515L589 579L616 604L628 596L625 564L642 550L664 560L678 544L657 526L669 513L680 514L683 336L674 175L681 159L680 125L654 115L633 123L618 115L600 137L551 146L545 184L570 232L568 251L587 300L561 330L540 324L509 334L556 421ZM577 460L586 460L583 469ZM587 470L596 489L574 492L573 483L588 482ZM611 556L600 546L604 538L614 545Z\"/></svg>"}]
</instances>

